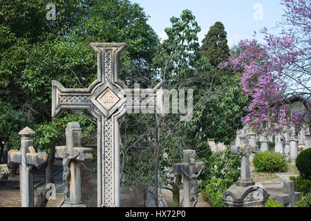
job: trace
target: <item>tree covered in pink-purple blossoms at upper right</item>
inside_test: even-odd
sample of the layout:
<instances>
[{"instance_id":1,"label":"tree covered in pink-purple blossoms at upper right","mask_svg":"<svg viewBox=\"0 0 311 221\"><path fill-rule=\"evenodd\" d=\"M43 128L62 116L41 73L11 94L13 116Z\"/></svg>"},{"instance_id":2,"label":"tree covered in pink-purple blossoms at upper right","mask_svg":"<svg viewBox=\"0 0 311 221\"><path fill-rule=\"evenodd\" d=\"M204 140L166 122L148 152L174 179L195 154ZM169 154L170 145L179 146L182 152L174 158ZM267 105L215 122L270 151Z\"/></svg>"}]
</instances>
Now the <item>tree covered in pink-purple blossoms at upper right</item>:
<instances>
[{"instance_id":1,"label":"tree covered in pink-purple blossoms at upper right","mask_svg":"<svg viewBox=\"0 0 311 221\"><path fill-rule=\"evenodd\" d=\"M288 125L299 130L305 122L311 127L311 1L281 4L285 13L277 23L279 34L264 28L265 44L243 40L222 64L241 75L241 89L249 97L244 124L268 133ZM301 111L294 112L291 104L299 104Z\"/></svg>"}]
</instances>

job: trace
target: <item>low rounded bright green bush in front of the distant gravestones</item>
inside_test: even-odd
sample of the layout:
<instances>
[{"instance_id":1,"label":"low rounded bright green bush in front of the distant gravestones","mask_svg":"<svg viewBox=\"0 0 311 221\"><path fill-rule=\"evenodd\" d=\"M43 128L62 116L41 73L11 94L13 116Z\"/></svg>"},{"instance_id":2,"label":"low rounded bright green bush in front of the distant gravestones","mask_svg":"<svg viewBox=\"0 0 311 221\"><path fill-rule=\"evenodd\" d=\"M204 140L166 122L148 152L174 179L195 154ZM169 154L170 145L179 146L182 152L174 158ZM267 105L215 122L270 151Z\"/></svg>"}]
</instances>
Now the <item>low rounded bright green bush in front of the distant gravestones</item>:
<instances>
[{"instance_id":1,"label":"low rounded bright green bush in front of the distant gravestones","mask_svg":"<svg viewBox=\"0 0 311 221\"><path fill-rule=\"evenodd\" d=\"M286 158L281 153L274 151L259 152L253 159L254 169L258 172L286 172L288 164Z\"/></svg>"}]
</instances>

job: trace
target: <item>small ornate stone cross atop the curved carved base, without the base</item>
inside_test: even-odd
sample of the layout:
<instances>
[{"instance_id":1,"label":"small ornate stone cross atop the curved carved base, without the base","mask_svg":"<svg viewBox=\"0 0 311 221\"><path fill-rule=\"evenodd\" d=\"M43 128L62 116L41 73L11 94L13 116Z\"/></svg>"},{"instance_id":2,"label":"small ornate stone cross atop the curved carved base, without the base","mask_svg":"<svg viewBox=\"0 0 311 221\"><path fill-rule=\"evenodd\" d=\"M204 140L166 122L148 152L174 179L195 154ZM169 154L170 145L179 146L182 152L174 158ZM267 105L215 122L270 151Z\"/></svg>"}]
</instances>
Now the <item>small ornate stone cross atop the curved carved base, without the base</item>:
<instances>
[{"instance_id":1,"label":"small ornate stone cross atop the curved carved base, without the base","mask_svg":"<svg viewBox=\"0 0 311 221\"><path fill-rule=\"evenodd\" d=\"M250 177L249 170L249 156L252 153L258 153L258 146L248 144L248 136L240 135L241 144L231 147L231 153L234 155L241 155L241 177L236 182L236 186L251 186L255 182Z\"/></svg>"}]
</instances>

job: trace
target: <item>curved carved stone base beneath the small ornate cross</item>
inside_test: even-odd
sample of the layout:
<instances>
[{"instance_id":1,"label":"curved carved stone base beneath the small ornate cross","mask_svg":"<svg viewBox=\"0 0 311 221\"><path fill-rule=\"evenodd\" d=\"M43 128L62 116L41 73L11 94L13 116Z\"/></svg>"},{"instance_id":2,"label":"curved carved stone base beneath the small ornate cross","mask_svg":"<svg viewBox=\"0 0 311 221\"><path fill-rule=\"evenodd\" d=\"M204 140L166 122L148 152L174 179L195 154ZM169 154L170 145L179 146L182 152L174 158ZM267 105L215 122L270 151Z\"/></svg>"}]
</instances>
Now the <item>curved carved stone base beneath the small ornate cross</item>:
<instances>
[{"instance_id":1,"label":"curved carved stone base beneath the small ornate cross","mask_svg":"<svg viewBox=\"0 0 311 221\"><path fill-rule=\"evenodd\" d=\"M227 207L264 207L270 194L261 186L230 186L222 200Z\"/></svg>"}]
</instances>

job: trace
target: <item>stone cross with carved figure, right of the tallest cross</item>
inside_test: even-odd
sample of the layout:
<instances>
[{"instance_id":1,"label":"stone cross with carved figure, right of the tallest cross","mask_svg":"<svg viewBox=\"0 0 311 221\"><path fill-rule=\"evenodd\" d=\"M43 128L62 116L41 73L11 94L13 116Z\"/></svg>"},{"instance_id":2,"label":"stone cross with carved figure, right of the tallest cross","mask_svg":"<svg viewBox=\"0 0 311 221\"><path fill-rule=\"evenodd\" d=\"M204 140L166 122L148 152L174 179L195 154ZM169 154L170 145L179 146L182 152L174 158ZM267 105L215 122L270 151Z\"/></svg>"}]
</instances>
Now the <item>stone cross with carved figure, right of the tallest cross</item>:
<instances>
[{"instance_id":1,"label":"stone cross with carved figure, right of the tallest cross","mask_svg":"<svg viewBox=\"0 0 311 221\"><path fill-rule=\"evenodd\" d=\"M183 159L180 164L173 164L173 172L182 174L182 207L195 207L198 202L198 176L204 171L204 162L196 162L196 151L182 151Z\"/></svg>"}]
</instances>

